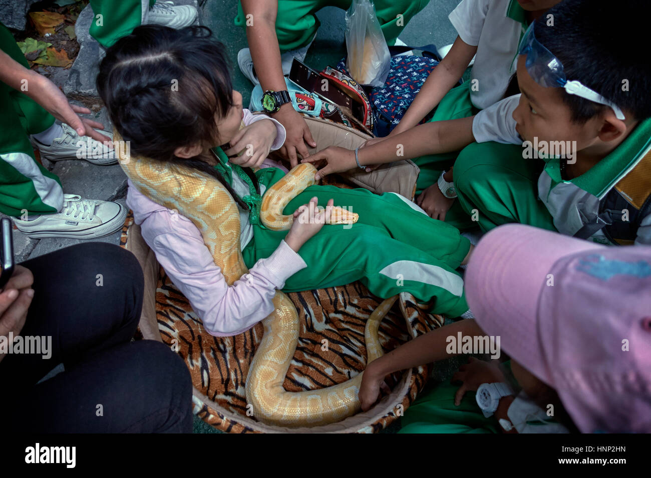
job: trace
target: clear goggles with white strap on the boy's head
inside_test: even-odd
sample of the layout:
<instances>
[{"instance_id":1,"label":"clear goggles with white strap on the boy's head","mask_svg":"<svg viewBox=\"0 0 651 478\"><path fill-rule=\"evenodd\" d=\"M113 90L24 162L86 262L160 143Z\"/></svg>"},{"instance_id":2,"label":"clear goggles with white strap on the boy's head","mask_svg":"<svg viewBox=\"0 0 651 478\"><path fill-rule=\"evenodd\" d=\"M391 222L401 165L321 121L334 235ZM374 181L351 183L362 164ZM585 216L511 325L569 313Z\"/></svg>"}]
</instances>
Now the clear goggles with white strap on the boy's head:
<instances>
[{"instance_id":1,"label":"clear goggles with white strap on the boy's head","mask_svg":"<svg viewBox=\"0 0 651 478\"><path fill-rule=\"evenodd\" d=\"M622 110L615 103L606 100L596 91L590 90L587 86L579 83L579 81L568 81L561 60L557 59L551 51L536 40L534 25L535 22L529 25L529 29L527 29L527 33L522 38L519 47L519 55L527 56L525 62L527 72L534 81L545 88L565 88L568 94L575 94L586 100L609 106L615 111L618 119L626 119Z\"/></svg>"}]
</instances>

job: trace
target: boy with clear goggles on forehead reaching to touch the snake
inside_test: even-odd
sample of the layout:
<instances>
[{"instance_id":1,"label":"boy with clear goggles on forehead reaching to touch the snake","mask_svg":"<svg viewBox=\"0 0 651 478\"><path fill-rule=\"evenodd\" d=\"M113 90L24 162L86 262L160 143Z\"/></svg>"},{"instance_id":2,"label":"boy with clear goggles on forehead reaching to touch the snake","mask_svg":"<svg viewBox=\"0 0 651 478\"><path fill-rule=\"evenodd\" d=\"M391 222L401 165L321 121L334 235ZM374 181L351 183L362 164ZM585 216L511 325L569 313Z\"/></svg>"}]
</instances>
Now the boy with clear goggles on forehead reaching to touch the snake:
<instances>
[{"instance_id":1,"label":"boy with clear goggles on forehead reaching to touch the snake","mask_svg":"<svg viewBox=\"0 0 651 478\"><path fill-rule=\"evenodd\" d=\"M483 231L521 222L606 244L651 244L651 66L643 0L566 0L519 49L521 95L477 116L417 126L357 154L327 148L320 176L466 148L441 192ZM551 17L549 17L551 15ZM549 19L551 18L551 21ZM472 143L472 144L471 144ZM396 149L397 148L397 149Z\"/></svg>"}]
</instances>

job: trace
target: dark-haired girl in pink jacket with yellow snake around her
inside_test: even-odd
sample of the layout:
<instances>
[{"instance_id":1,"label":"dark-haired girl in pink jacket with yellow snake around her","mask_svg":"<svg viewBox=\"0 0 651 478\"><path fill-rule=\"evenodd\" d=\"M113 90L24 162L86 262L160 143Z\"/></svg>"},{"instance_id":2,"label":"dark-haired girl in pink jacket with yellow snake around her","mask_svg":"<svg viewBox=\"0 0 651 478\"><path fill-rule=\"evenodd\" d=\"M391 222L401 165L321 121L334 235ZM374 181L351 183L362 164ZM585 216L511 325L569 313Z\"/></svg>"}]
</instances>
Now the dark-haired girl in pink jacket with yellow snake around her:
<instances>
[{"instance_id":1,"label":"dark-haired girl in pink jacket with yellow snake around her","mask_svg":"<svg viewBox=\"0 0 651 478\"><path fill-rule=\"evenodd\" d=\"M197 227L129 184L127 204L145 241L206 330L228 336L251 328L273 310L275 289L355 280L378 297L406 291L433 300L435 313L466 313L456 269L469 254L469 241L398 194L313 185L284 211L298 218L291 230L260 224L261 197L285 171L250 168L265 166L268 152L282 146L284 128L242 109L223 51L205 27L142 26L108 49L98 75L100 96L132 155L200 170L221 182L240 208L242 256L250 272L229 287ZM323 227L308 202L335 202L358 213L359 221Z\"/></svg>"}]
</instances>

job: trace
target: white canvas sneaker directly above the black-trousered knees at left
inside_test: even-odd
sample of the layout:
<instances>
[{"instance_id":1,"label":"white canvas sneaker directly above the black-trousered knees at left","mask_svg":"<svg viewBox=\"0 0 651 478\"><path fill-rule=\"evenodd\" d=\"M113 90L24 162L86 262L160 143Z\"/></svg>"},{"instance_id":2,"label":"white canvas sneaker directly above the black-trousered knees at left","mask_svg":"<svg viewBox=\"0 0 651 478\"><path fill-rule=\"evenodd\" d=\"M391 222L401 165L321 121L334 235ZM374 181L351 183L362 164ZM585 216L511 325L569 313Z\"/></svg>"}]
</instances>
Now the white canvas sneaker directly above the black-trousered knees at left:
<instances>
[{"instance_id":1,"label":"white canvas sneaker directly above the black-trousered knees at left","mask_svg":"<svg viewBox=\"0 0 651 478\"><path fill-rule=\"evenodd\" d=\"M82 199L76 194L64 194L63 208L59 213L40 215L33 220L13 219L20 232L35 239L96 239L122 228L126 213L126 207L118 202Z\"/></svg>"}]
</instances>

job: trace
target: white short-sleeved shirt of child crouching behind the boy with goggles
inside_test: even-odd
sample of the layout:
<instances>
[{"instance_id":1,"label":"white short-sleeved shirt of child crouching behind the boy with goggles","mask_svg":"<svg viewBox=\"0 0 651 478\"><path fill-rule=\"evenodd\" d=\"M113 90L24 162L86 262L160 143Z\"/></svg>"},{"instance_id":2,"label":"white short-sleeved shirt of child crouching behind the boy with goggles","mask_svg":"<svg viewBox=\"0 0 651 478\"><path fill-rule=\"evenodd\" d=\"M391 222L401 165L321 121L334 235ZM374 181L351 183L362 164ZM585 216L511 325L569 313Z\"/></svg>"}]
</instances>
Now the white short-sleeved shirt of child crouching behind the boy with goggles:
<instances>
[{"instance_id":1,"label":"white short-sleeved shirt of child crouching behind the boy with goggles","mask_svg":"<svg viewBox=\"0 0 651 478\"><path fill-rule=\"evenodd\" d=\"M463 0L449 18L460 38L477 46L470 99L478 109L487 108L503 98L516 72L525 10L516 0Z\"/></svg>"}]
</instances>

